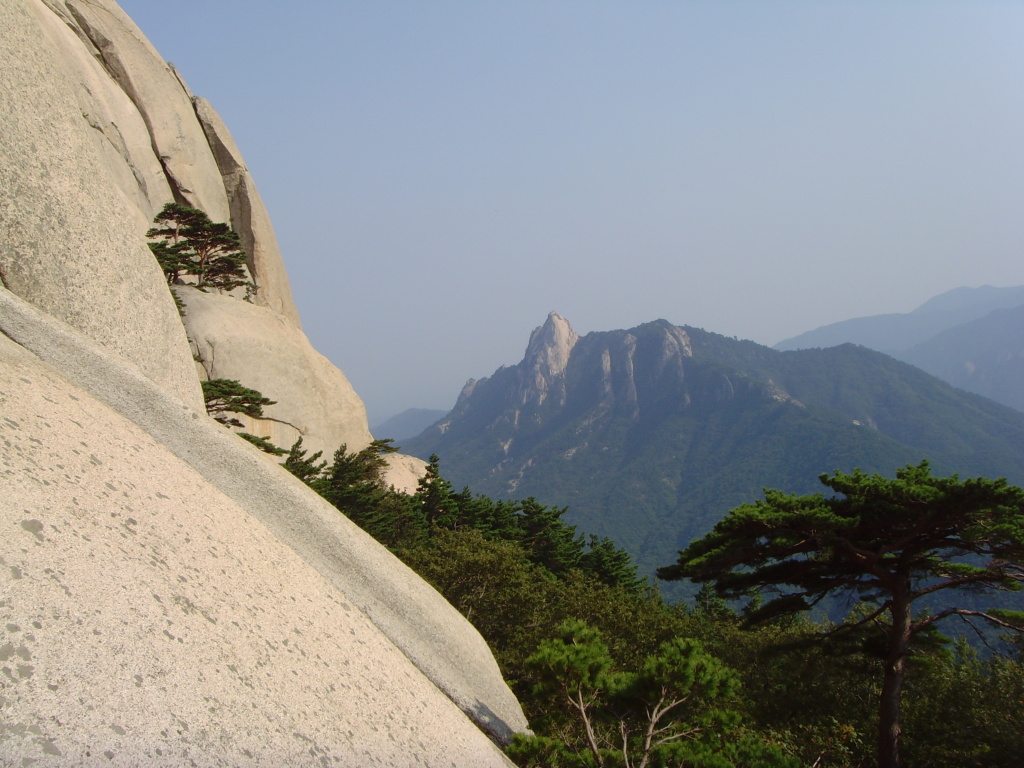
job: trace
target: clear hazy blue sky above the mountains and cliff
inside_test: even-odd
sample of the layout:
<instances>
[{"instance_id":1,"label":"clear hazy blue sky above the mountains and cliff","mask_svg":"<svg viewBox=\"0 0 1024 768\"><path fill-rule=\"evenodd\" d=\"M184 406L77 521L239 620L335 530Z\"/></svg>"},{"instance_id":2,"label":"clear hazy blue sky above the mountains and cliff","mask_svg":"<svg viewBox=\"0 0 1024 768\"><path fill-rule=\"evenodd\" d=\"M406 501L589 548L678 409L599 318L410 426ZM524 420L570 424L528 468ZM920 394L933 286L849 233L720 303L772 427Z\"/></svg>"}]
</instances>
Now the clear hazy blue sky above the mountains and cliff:
<instances>
[{"instance_id":1,"label":"clear hazy blue sky above the mountains and cliff","mask_svg":"<svg viewBox=\"0 0 1024 768\"><path fill-rule=\"evenodd\" d=\"M552 309L774 344L1024 284L1022 2L121 5L230 128L371 423Z\"/></svg>"}]
</instances>

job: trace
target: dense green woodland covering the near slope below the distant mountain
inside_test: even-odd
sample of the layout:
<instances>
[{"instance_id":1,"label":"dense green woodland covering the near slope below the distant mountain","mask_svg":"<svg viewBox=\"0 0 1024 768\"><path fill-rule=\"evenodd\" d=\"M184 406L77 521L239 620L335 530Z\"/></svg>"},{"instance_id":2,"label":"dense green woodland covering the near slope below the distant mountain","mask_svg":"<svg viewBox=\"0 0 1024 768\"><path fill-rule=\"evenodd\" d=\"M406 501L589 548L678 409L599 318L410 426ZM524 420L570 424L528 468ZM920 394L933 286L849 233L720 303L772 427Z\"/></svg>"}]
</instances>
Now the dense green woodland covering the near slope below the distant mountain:
<instances>
[{"instance_id":1,"label":"dense green woodland covering the near slope below the distant mountain","mask_svg":"<svg viewBox=\"0 0 1024 768\"><path fill-rule=\"evenodd\" d=\"M382 442L386 447L389 441ZM365 483L373 485L368 477L381 468L380 449L371 449L371 455L361 458L336 452L329 471L318 455L307 457L297 441L285 465L313 487L325 487L326 478L333 475L335 490L342 478L362 490L373 490ZM648 659L664 659L668 649L674 660L663 667L667 674L689 674L687 664L708 657L709 665L731 676L727 696L691 696L672 711L685 710L671 723L674 728L696 724L703 730L693 734L695 738L678 739L675 746L669 742L657 748L668 762L651 760L650 766L865 768L872 764L878 742L878 680L884 665L877 646L878 639L885 637L884 623L863 625L869 632L838 634L829 643L812 643L834 626L780 617L749 627L743 615L731 610L711 589L710 582L692 609L667 605L656 592L636 584L635 571L628 578L631 572L615 565L625 562L622 550L594 538L587 547L574 529L560 523L564 510L528 500L524 514L523 502L495 501L474 496L468 488L453 493L434 464L433 488L428 484L408 497L382 489L382 483L377 487L379 495L370 494L376 495L376 501L357 516L360 524L434 585L487 641L537 733L532 739L517 739L512 748L520 765L596 765L579 713L564 698L552 697L557 678L540 679L538 649L554 639L552 628L566 621L586 622L600 633L611 659L607 674L618 676L620 686L600 691L589 710L598 732L620 743L618 725L624 723L632 754L641 760L644 723L649 722L646 707L652 700ZM347 495L356 500L359 496L346 490L336 498ZM446 519L449 527L427 523L424 509L428 504L446 510L437 517ZM531 536L525 534L524 517L531 521ZM571 530L568 537L566 529ZM539 536L543 531L547 534ZM557 564L558 558L544 563L527 552L527 542L537 545L545 539L551 541L538 547L538 552L557 551L554 544L561 543L565 551L561 561L571 560L577 566L564 569ZM579 549L566 546L569 540L578 542ZM559 575L550 567L552 562ZM609 571L620 573L608 580L613 585L602 581ZM867 604L857 605L853 622L874 610ZM752 614L758 607L754 601L743 612ZM1015 722L1024 685L1022 665L1000 657L991 663L972 662L934 643L921 643L920 638L916 646L908 656L904 696L908 729L904 767L1017 768L1018 756L1024 752L1024 729ZM694 674L700 669L694 663ZM958 690L970 695L959 697ZM667 717L663 723L674 715ZM963 721L965 727L949 728L949 718ZM976 738L973 733L978 734ZM621 752L608 753L609 743L600 748L602 760L608 766L625 765ZM656 750L651 754L657 754Z\"/></svg>"}]
</instances>

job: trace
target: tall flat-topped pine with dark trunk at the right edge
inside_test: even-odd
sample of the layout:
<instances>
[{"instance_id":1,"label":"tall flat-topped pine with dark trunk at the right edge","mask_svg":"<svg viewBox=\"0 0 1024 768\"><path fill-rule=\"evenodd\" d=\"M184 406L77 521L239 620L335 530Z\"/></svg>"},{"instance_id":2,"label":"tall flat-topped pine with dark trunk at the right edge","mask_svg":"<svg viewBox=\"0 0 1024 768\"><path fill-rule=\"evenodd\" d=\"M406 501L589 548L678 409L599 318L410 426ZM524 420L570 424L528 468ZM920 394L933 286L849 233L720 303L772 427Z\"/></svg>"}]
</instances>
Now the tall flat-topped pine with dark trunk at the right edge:
<instances>
[{"instance_id":1,"label":"tall flat-topped pine with dark trunk at the right edge","mask_svg":"<svg viewBox=\"0 0 1024 768\"><path fill-rule=\"evenodd\" d=\"M953 615L1024 631L1024 613L978 610L957 599L964 590L1024 584L1024 490L1004 479L934 477L927 462L900 469L895 479L858 470L820 480L835 495L766 490L763 501L732 510L658 575L712 582L727 598L776 593L749 612L752 623L839 594L868 604L828 634L884 629L879 765L896 768L913 641Z\"/></svg>"}]
</instances>

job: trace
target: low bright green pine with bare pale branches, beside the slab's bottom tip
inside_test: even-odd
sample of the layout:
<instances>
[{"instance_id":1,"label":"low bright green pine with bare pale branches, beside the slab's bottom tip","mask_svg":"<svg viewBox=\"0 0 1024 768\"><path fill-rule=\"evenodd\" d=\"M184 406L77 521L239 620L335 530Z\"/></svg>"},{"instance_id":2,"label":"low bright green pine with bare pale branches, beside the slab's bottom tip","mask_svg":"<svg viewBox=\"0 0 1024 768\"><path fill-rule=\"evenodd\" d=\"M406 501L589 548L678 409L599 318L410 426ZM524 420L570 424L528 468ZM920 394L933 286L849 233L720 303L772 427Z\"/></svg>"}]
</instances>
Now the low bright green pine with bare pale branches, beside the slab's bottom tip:
<instances>
[{"instance_id":1,"label":"low bright green pine with bare pale branches, beside the slab's bottom tip","mask_svg":"<svg viewBox=\"0 0 1024 768\"><path fill-rule=\"evenodd\" d=\"M673 638L636 668L614 660L601 633L567 621L526 659L550 736L520 737L510 756L532 766L794 766L740 727L737 675L700 643Z\"/></svg>"}]
</instances>

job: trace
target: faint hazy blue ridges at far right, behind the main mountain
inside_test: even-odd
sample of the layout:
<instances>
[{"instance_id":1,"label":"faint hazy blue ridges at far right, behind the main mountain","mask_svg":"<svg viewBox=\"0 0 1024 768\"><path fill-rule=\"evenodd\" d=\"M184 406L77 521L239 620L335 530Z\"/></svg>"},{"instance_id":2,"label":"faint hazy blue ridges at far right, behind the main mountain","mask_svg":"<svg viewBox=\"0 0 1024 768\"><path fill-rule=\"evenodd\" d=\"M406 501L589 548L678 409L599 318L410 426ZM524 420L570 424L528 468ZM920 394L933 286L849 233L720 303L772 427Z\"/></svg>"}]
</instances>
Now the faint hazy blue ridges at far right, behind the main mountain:
<instances>
[{"instance_id":1,"label":"faint hazy blue ridges at far right, behind the main mountain","mask_svg":"<svg viewBox=\"0 0 1024 768\"><path fill-rule=\"evenodd\" d=\"M904 314L834 323L775 345L861 344L1024 411L1024 286L957 288Z\"/></svg>"}]
</instances>

